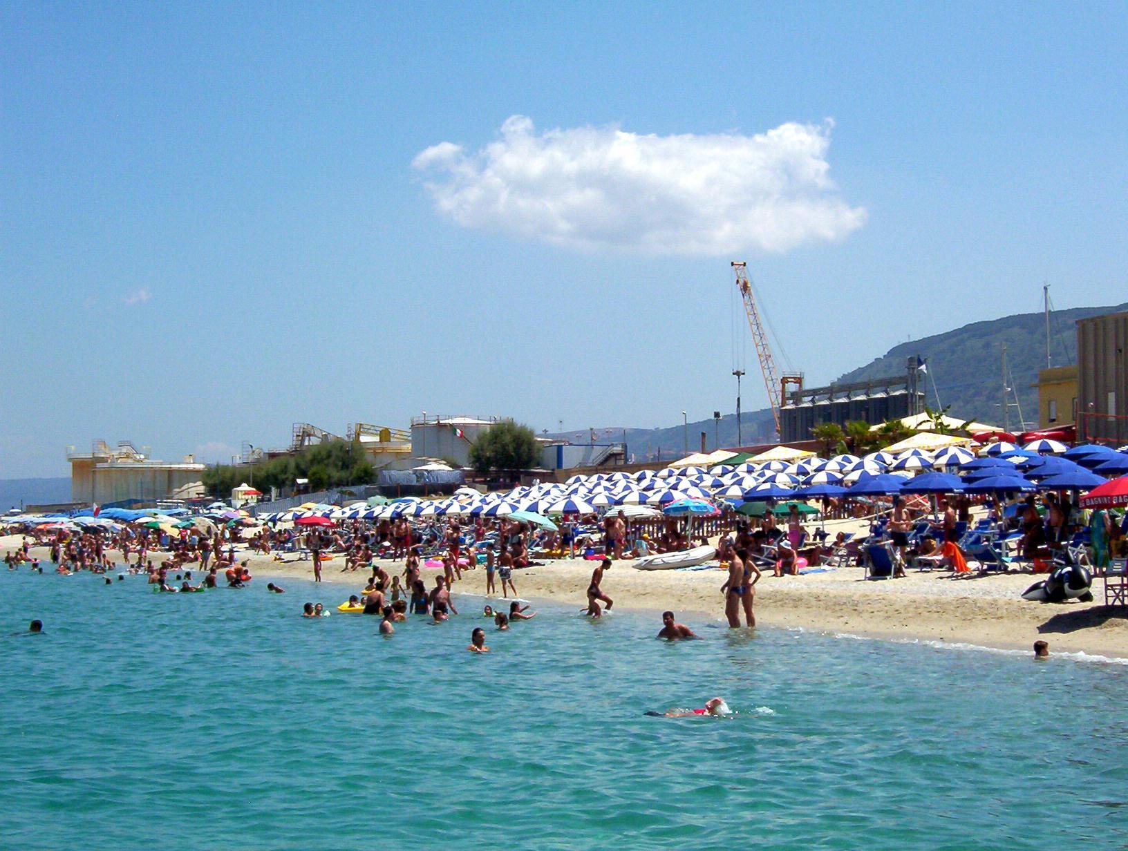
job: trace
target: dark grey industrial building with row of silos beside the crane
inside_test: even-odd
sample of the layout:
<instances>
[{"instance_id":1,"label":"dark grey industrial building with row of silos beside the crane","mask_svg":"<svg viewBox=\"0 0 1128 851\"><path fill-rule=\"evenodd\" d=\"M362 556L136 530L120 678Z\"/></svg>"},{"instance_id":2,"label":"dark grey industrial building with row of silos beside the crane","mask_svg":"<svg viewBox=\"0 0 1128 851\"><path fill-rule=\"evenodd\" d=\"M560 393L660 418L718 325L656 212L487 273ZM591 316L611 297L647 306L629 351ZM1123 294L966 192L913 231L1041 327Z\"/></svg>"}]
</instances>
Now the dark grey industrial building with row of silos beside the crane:
<instances>
[{"instance_id":1,"label":"dark grey industrial building with row of silos beside the crane","mask_svg":"<svg viewBox=\"0 0 1128 851\"><path fill-rule=\"evenodd\" d=\"M923 411L918 363L917 357L908 358L902 375L790 391L779 409L779 440L809 441L812 429L823 423L845 426L857 419L878 425Z\"/></svg>"}]
</instances>

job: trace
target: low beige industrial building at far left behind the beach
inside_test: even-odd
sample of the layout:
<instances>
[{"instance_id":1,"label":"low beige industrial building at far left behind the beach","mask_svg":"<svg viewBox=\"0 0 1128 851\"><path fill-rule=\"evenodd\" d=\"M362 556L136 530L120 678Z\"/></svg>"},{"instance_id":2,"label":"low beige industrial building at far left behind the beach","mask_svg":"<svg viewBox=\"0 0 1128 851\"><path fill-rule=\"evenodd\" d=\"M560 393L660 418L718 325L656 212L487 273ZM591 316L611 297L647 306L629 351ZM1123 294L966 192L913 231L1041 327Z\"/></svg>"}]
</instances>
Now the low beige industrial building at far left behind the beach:
<instances>
[{"instance_id":1,"label":"low beige industrial building at far left behind the beach","mask_svg":"<svg viewBox=\"0 0 1128 851\"><path fill-rule=\"evenodd\" d=\"M203 496L200 479L205 466L192 455L180 463L156 461L129 441L111 447L94 441L89 452L67 453L71 464L71 499L76 503L107 505L126 499L188 499Z\"/></svg>"}]
</instances>

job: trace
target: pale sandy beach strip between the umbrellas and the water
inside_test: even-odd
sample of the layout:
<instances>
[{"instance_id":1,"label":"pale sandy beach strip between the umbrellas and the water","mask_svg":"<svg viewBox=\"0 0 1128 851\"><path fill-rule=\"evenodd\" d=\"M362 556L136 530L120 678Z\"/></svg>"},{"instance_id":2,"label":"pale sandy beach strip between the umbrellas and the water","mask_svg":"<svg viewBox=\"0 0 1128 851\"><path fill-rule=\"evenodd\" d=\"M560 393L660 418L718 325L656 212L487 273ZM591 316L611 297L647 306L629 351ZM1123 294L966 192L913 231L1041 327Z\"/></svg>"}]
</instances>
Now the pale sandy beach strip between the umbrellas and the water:
<instances>
[{"instance_id":1,"label":"pale sandy beach strip between the umbrellas and the water","mask_svg":"<svg viewBox=\"0 0 1128 851\"><path fill-rule=\"evenodd\" d=\"M19 537L0 538L0 549L15 549ZM249 559L257 579L272 577L312 578L312 566L296 556L273 557L239 552ZM33 548L46 559L46 548ZM166 558L153 553L155 561ZM403 562L381 560L389 573L403 570ZM344 574L344 557L325 562L327 586L321 602L342 602L361 590L363 571ZM536 601L585 605L584 588L594 564L583 559L549 560L539 567L515 570L520 595ZM430 587L438 570L424 568ZM1030 574L972 574L950 578L949 571L919 573L909 569L901 579L865 580L862 568L844 567L828 573L776 578L765 575L756 586L757 623L765 627L802 628L826 632L964 642L1005 649L1030 649L1034 640L1050 642L1051 651L1085 653L1128 658L1128 618L1105 608L1103 584L1094 579L1093 603L1041 604L1020 599L1038 577ZM673 609L690 624L723 621L720 588L725 573L720 569L636 570L629 561L617 561L603 582L605 591L623 611L659 612ZM481 597L485 570L464 573L453 592ZM338 599L340 597L340 599ZM655 618L655 630L659 628Z\"/></svg>"}]
</instances>

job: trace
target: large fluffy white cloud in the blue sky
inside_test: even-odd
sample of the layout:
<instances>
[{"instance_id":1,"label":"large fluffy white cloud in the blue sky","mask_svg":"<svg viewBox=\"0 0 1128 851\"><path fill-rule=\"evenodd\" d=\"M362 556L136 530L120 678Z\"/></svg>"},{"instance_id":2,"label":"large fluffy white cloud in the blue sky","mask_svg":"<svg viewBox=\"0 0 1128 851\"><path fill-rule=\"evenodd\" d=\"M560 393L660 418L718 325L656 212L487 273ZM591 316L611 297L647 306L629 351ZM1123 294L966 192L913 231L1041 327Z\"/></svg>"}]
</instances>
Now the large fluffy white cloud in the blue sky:
<instances>
[{"instance_id":1,"label":"large fluffy white cloud in the blue sky","mask_svg":"<svg viewBox=\"0 0 1128 851\"><path fill-rule=\"evenodd\" d=\"M786 251L865 222L828 177L832 122L766 133L538 132L521 115L478 151L441 142L413 166L438 210L465 228L573 248L651 254Z\"/></svg>"}]
</instances>

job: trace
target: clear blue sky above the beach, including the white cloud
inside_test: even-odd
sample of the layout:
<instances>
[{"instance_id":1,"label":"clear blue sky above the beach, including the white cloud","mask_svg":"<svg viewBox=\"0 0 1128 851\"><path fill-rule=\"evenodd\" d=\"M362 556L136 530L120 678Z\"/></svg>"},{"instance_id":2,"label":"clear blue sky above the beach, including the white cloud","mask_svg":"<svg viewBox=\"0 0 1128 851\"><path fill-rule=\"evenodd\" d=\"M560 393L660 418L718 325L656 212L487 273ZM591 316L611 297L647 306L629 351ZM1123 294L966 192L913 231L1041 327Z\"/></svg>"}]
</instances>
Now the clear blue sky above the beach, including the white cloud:
<instances>
[{"instance_id":1,"label":"clear blue sky above the beach, including the white cloud","mask_svg":"<svg viewBox=\"0 0 1128 851\"><path fill-rule=\"evenodd\" d=\"M1126 292L1122 5L8 3L0 38L0 478L708 417L731 259L809 382Z\"/></svg>"}]
</instances>

